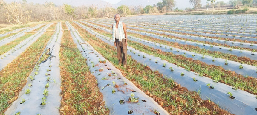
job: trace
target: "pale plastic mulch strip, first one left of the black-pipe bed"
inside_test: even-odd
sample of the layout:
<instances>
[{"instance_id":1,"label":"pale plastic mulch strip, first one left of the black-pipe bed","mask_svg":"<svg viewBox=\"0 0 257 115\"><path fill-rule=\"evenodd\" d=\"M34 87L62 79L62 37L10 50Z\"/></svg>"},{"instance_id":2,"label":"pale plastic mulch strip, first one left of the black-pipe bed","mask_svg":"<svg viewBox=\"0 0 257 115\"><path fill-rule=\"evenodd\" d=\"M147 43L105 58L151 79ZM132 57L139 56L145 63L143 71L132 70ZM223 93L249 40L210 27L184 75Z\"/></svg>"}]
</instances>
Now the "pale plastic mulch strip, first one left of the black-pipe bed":
<instances>
[{"instance_id":1,"label":"pale plastic mulch strip, first one left of the black-pipe bed","mask_svg":"<svg viewBox=\"0 0 257 115\"><path fill-rule=\"evenodd\" d=\"M53 23L47 24L42 27L36 34L30 36L25 39L18 45L16 45L13 49L8 52L0 55L0 71L7 66L8 63L11 63L17 56L19 56L22 52L24 52L30 45L32 45L41 35L44 34L46 29L50 27Z\"/></svg>"}]
</instances>

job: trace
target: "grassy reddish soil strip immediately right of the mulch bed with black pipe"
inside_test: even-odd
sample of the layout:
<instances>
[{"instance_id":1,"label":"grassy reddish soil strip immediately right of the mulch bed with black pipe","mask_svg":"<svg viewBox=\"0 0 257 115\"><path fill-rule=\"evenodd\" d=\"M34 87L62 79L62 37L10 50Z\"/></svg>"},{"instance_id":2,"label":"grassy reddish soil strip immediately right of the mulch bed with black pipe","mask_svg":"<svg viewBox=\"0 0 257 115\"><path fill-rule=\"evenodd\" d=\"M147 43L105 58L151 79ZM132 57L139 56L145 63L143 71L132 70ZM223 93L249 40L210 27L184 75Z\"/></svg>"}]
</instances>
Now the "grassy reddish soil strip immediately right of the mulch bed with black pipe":
<instances>
[{"instance_id":1,"label":"grassy reddish soil strip immediately right of the mulch bed with black pipe","mask_svg":"<svg viewBox=\"0 0 257 115\"><path fill-rule=\"evenodd\" d=\"M65 23L62 23L62 28L67 29ZM97 80L90 74L86 60L73 43L69 31L63 32L60 55L60 114L109 114L97 87Z\"/></svg>"}]
</instances>

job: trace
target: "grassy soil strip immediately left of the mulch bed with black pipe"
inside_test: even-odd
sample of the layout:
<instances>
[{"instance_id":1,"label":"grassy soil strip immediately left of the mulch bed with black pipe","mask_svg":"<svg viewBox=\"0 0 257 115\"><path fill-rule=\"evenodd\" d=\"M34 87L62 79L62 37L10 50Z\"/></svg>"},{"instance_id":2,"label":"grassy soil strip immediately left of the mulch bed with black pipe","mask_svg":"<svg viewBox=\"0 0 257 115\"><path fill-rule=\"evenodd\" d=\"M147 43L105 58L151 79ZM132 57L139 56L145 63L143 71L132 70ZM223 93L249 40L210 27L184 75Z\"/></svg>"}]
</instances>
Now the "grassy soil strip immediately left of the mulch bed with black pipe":
<instances>
[{"instance_id":1,"label":"grassy soil strip immediately left of the mulch bed with black pipe","mask_svg":"<svg viewBox=\"0 0 257 115\"><path fill-rule=\"evenodd\" d=\"M16 59L0 71L0 114L18 99L19 92L25 86L28 75L32 72L53 32L45 32L35 43L30 45Z\"/></svg>"}]
</instances>

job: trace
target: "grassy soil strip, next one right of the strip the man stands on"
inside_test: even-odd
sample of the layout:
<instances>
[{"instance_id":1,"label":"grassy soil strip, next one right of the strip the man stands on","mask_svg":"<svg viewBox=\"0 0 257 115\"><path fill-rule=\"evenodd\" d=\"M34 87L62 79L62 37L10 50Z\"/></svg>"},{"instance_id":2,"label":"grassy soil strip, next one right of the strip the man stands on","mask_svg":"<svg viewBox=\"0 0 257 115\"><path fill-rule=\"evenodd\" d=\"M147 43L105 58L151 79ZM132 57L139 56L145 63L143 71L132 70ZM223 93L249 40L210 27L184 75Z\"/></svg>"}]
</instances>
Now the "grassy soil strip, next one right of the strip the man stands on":
<instances>
[{"instance_id":1,"label":"grassy soil strip, next one right of the strip the man stands on","mask_svg":"<svg viewBox=\"0 0 257 115\"><path fill-rule=\"evenodd\" d=\"M105 35L111 38L111 34L107 32L100 31L99 29L97 29L96 31L102 35ZM242 75L235 74L235 72L224 70L219 66L210 66L198 60L192 60L192 58L186 58L184 52L180 52L182 55L174 55L171 52L163 52L160 49L154 50L152 47L147 46L147 44L143 45L141 43L131 41L130 39L128 40L128 43L129 45L139 49L140 51L147 52L148 54L160 57L163 60L167 60L170 63L181 66L188 71L191 70L191 71L197 72L200 75L205 75L221 83L226 83L227 85L234 86L236 88L239 88L241 90L247 91L252 94L256 94L256 91L257 91L256 79L253 77L245 78ZM156 46L156 47L161 47L161 46ZM166 50L169 50L169 49L166 49ZM226 61L224 64L226 64ZM241 67L242 66L239 65L239 68Z\"/></svg>"}]
</instances>

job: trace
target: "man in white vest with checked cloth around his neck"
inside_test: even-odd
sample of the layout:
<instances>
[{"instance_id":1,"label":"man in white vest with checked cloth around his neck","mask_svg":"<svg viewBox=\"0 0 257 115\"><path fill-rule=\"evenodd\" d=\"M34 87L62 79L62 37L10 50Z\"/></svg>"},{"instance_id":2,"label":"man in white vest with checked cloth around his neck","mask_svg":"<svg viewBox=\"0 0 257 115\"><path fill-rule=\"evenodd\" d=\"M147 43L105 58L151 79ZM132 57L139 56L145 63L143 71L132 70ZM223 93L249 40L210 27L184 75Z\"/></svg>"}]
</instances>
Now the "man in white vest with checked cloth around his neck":
<instances>
[{"instance_id":1,"label":"man in white vest with checked cloth around his neck","mask_svg":"<svg viewBox=\"0 0 257 115\"><path fill-rule=\"evenodd\" d=\"M114 24L112 24L112 40L114 46L117 48L117 57L119 65L122 63L123 67L127 65L127 28L126 24L120 21L120 15L114 15Z\"/></svg>"}]
</instances>

